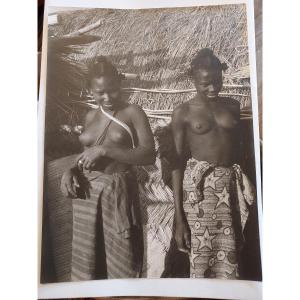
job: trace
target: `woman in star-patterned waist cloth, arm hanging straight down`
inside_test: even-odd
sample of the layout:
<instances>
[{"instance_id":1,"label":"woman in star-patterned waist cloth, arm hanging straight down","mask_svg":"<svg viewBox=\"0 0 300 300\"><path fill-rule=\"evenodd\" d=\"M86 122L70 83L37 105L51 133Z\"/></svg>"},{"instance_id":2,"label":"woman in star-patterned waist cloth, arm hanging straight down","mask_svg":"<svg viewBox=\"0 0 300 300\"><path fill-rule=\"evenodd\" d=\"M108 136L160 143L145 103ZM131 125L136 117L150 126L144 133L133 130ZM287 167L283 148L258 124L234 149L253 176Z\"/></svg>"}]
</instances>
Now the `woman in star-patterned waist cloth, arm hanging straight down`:
<instances>
[{"instance_id":1,"label":"woman in star-patterned waist cloth, arm hanging straight down","mask_svg":"<svg viewBox=\"0 0 300 300\"><path fill-rule=\"evenodd\" d=\"M197 96L172 116L178 155L172 171L175 240L189 253L194 278L238 277L238 250L254 200L252 185L236 165L239 102L219 96L225 68L210 49L200 50L190 70Z\"/></svg>"}]
</instances>

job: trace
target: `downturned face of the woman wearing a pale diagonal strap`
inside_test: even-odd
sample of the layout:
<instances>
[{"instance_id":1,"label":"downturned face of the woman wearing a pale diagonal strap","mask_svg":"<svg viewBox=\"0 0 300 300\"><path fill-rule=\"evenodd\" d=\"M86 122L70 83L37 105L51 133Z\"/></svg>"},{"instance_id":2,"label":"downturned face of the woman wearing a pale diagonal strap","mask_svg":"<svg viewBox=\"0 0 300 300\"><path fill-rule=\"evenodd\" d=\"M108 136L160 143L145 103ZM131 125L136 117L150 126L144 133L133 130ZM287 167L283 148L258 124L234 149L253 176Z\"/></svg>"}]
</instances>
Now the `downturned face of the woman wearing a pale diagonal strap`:
<instances>
[{"instance_id":1,"label":"downturned face of the woman wearing a pale diagonal strap","mask_svg":"<svg viewBox=\"0 0 300 300\"><path fill-rule=\"evenodd\" d=\"M120 101L120 83L108 76L91 80L91 92L98 105L113 110Z\"/></svg>"}]
</instances>

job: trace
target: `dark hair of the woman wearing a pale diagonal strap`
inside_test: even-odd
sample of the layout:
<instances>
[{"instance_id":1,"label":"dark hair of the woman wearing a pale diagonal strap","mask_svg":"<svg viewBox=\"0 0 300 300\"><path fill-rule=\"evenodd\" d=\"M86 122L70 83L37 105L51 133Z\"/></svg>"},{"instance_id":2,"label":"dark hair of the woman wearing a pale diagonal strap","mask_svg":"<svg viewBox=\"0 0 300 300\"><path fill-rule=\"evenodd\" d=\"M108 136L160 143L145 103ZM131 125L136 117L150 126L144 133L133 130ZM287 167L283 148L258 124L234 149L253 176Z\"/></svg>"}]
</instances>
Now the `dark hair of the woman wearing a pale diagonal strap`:
<instances>
[{"instance_id":1,"label":"dark hair of the woman wearing a pale diagonal strap","mask_svg":"<svg viewBox=\"0 0 300 300\"><path fill-rule=\"evenodd\" d=\"M118 81L122 79L122 74L118 72L116 67L105 56L97 56L89 66L88 79L90 81L93 78L101 76L109 76Z\"/></svg>"}]
</instances>

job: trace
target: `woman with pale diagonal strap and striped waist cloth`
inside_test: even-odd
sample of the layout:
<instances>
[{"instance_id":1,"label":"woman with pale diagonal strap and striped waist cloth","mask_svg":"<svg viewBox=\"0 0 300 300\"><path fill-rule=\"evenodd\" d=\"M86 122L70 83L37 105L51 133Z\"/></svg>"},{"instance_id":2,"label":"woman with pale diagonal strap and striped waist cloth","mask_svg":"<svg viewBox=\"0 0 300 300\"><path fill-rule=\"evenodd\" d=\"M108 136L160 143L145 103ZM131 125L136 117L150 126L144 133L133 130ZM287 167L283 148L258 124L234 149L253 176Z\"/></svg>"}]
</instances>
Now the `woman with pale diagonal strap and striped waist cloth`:
<instances>
[{"instance_id":1,"label":"woman with pale diagonal strap and striped waist cloth","mask_svg":"<svg viewBox=\"0 0 300 300\"><path fill-rule=\"evenodd\" d=\"M72 280L138 277L141 256L132 165L152 164L154 140L143 110L121 100L121 74L104 57L89 71L99 109L86 116L84 151L64 172L73 202Z\"/></svg>"}]
</instances>

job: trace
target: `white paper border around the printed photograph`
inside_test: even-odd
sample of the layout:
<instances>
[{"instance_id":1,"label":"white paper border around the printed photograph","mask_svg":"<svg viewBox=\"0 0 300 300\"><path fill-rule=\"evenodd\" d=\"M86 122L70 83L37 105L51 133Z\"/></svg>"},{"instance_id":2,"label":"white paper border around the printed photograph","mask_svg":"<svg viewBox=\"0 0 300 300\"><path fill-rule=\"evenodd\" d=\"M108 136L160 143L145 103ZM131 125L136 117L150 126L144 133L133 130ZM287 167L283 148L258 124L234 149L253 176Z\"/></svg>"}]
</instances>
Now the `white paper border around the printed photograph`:
<instances>
[{"instance_id":1,"label":"white paper border around the printed photograph","mask_svg":"<svg viewBox=\"0 0 300 300\"><path fill-rule=\"evenodd\" d=\"M44 132L46 106L46 70L48 41L48 8L82 7L82 8L115 8L143 9L162 7L190 7L224 4L246 4L248 25L248 47L251 76L251 103L253 113L254 149L256 161L257 207L259 220L260 250L262 253L262 200L260 174L259 119L257 99L257 76L254 31L253 0L46 0L43 28L43 46L41 61L41 82L38 115L38 298L73 298L104 296L169 296L169 297L202 297L220 299L261 299L262 282L246 280L218 279L106 279L67 283L40 283L41 241L43 211L43 174L44 174Z\"/></svg>"}]
</instances>

